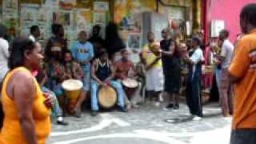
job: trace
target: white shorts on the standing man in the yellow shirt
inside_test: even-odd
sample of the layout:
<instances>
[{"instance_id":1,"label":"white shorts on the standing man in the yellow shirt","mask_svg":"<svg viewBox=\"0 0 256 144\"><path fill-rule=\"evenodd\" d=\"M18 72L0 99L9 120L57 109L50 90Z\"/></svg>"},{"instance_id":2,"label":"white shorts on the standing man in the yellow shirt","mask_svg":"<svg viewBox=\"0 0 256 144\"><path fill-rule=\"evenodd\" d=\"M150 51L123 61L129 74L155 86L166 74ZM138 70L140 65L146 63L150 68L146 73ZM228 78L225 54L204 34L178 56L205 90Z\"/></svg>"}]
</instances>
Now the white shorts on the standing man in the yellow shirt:
<instances>
[{"instance_id":1,"label":"white shorts on the standing man in the yellow shirt","mask_svg":"<svg viewBox=\"0 0 256 144\"><path fill-rule=\"evenodd\" d=\"M164 78L162 67L152 68L146 71L146 90L162 91Z\"/></svg>"}]
</instances>

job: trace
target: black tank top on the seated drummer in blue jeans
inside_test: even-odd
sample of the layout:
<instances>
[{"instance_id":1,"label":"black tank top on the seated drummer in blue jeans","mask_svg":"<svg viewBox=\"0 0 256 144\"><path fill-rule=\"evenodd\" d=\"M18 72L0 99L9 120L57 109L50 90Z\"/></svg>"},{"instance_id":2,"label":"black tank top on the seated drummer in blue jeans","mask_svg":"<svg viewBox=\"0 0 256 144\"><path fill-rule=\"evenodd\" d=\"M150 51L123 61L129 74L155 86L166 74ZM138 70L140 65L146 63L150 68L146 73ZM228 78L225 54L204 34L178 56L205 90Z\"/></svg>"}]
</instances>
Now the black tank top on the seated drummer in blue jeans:
<instances>
[{"instance_id":1,"label":"black tank top on the seated drummer in blue jeans","mask_svg":"<svg viewBox=\"0 0 256 144\"><path fill-rule=\"evenodd\" d=\"M102 64L99 58L96 59L96 76L99 80L105 81L111 74L110 62Z\"/></svg>"}]
</instances>

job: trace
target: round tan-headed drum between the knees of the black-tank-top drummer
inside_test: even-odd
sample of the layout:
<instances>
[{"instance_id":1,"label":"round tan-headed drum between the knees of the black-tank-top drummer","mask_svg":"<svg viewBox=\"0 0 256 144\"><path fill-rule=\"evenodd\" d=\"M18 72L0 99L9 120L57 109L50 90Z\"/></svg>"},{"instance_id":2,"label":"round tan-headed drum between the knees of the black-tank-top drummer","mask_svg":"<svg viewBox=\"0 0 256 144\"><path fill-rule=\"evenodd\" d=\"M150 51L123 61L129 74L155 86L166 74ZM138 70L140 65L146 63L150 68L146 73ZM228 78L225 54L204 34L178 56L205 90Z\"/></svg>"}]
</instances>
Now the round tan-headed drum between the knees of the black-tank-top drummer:
<instances>
[{"instance_id":1,"label":"round tan-headed drum between the knees of the black-tank-top drummer","mask_svg":"<svg viewBox=\"0 0 256 144\"><path fill-rule=\"evenodd\" d=\"M118 94L112 86L98 88L98 103L103 109L109 110L118 101Z\"/></svg>"}]
</instances>

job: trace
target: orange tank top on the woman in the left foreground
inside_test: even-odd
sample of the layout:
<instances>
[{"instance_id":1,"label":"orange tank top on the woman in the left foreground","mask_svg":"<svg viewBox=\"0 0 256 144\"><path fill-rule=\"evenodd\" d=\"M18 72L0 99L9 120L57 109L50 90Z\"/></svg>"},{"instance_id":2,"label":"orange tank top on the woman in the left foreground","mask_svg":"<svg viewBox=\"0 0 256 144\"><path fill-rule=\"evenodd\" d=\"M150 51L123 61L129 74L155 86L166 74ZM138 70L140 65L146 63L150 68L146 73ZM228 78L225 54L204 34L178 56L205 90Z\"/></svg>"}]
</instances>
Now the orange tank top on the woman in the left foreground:
<instances>
[{"instance_id":1,"label":"orange tank top on the woman in the left foreground","mask_svg":"<svg viewBox=\"0 0 256 144\"><path fill-rule=\"evenodd\" d=\"M0 143L2 144L26 144L26 139L22 134L22 127L18 119L18 110L14 101L7 95L7 82L17 71L24 71L31 74L29 70L24 67L18 67L6 75L2 84L2 107L5 114L1 134ZM39 144L45 144L46 138L50 134L50 109L44 105L45 97L42 94L38 82L34 78L36 85L36 95L34 97L33 118L36 129L36 136Z\"/></svg>"}]
</instances>

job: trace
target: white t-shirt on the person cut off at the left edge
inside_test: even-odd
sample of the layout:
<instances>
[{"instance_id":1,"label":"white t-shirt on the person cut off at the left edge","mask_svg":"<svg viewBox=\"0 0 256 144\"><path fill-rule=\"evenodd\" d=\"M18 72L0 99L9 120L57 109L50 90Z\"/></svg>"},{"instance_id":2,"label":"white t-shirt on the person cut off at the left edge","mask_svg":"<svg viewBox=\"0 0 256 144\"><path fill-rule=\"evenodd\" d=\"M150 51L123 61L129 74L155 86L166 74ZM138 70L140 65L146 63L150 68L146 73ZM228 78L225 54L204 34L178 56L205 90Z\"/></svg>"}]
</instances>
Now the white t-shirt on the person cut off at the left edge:
<instances>
[{"instance_id":1,"label":"white t-shirt on the person cut off at the left edge","mask_svg":"<svg viewBox=\"0 0 256 144\"><path fill-rule=\"evenodd\" d=\"M0 82L5 77L8 69L8 58L9 58L9 43L0 38Z\"/></svg>"}]
</instances>

